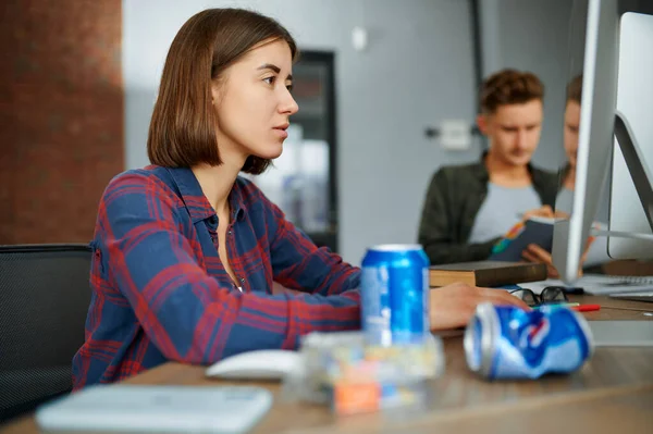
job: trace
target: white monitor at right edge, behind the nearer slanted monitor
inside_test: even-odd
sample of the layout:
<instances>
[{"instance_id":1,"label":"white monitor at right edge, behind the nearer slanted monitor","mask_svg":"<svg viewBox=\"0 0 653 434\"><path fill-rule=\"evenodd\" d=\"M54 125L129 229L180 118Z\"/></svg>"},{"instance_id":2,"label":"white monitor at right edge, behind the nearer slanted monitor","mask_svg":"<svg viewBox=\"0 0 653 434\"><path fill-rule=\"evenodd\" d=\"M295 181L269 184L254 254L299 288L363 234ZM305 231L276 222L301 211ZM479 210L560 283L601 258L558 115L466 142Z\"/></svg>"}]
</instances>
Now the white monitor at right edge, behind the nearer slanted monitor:
<instances>
[{"instance_id":1,"label":"white monitor at right edge, behind the nearer slanted monitor","mask_svg":"<svg viewBox=\"0 0 653 434\"><path fill-rule=\"evenodd\" d=\"M653 15L628 12L621 16L618 74L620 116L615 124L609 231L651 235L653 197L645 179L653 178ZM625 128L630 129L628 134ZM634 146L620 142L628 139ZM626 157L641 168L628 164L621 145L638 152ZM608 236L607 252L615 259L652 259L653 244L639 236Z\"/></svg>"}]
</instances>

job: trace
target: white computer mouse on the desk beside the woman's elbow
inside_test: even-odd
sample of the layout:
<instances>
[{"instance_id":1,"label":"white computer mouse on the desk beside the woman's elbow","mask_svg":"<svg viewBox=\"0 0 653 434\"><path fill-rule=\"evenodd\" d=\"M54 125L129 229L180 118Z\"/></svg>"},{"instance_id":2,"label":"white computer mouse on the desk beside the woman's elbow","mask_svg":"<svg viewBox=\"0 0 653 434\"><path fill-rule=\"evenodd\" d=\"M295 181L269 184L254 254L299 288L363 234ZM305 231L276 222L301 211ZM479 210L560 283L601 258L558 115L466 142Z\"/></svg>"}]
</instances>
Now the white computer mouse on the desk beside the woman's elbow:
<instances>
[{"instance_id":1,"label":"white computer mouse on the desk beside the woman's elbow","mask_svg":"<svg viewBox=\"0 0 653 434\"><path fill-rule=\"evenodd\" d=\"M287 349L260 349L242 352L213 363L206 375L219 379L283 380L304 369L301 355Z\"/></svg>"}]
</instances>

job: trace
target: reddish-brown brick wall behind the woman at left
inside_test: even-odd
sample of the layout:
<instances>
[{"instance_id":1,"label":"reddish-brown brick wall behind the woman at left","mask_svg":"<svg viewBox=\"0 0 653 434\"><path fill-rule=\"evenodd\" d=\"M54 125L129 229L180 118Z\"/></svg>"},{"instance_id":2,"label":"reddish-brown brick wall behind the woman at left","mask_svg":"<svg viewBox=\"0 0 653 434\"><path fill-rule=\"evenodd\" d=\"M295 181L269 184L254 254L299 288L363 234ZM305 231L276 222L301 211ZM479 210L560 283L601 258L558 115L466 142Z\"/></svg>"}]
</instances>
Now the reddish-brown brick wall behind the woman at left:
<instances>
[{"instance_id":1,"label":"reddish-brown brick wall behind the woman at left","mask_svg":"<svg viewBox=\"0 0 653 434\"><path fill-rule=\"evenodd\" d=\"M121 0L0 11L0 244L87 241L124 166Z\"/></svg>"}]
</instances>

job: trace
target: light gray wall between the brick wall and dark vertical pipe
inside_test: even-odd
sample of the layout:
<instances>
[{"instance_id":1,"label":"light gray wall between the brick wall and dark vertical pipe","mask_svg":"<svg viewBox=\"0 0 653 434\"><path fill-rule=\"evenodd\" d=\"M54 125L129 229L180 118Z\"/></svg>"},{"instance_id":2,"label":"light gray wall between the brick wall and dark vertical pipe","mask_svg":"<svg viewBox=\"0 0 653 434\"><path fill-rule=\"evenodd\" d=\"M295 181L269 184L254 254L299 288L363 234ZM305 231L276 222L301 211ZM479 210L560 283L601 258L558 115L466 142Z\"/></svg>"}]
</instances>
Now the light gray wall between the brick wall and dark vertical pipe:
<instances>
[{"instance_id":1,"label":"light gray wall between the brick wall and dark vertical pipe","mask_svg":"<svg viewBox=\"0 0 653 434\"><path fill-rule=\"evenodd\" d=\"M123 0L126 162L147 164L145 144L163 60L174 34L209 7L250 7L278 18L300 48L336 53L340 245L355 264L367 246L414 243L423 195L444 163L427 126L475 116L471 29L464 0ZM355 26L369 48L350 44Z\"/></svg>"}]
</instances>

